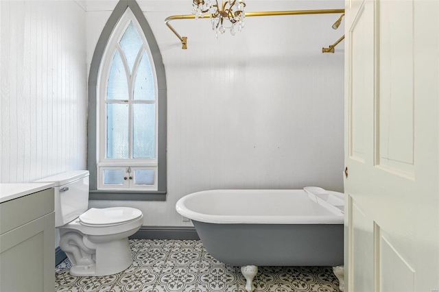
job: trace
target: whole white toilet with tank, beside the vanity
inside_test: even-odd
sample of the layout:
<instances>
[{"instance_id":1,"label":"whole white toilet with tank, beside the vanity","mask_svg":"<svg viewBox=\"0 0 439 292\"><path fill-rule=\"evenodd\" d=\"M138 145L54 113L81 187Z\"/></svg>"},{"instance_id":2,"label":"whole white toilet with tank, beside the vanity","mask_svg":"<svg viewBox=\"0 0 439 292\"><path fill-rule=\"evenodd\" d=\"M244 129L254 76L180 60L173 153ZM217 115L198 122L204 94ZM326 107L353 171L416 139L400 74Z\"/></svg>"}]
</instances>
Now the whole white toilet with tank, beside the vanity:
<instances>
[{"instance_id":1,"label":"whole white toilet with tank, beside the vanity","mask_svg":"<svg viewBox=\"0 0 439 292\"><path fill-rule=\"evenodd\" d=\"M132 263L128 236L143 224L141 210L88 209L88 171L69 171L38 182L54 182L55 226L73 276L106 276Z\"/></svg>"}]
</instances>

